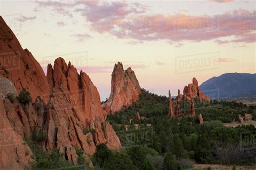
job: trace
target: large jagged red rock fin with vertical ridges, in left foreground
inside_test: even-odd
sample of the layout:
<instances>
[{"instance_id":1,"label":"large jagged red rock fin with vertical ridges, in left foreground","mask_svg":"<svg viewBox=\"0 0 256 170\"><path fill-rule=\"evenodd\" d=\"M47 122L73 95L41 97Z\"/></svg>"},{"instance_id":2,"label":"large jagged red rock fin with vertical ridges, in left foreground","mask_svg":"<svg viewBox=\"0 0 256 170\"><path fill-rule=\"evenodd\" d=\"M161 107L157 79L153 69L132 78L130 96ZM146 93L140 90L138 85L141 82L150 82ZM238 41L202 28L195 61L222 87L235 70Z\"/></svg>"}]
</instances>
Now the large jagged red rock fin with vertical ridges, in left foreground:
<instances>
[{"instance_id":1,"label":"large jagged red rock fin with vertical ridges, in left foreground","mask_svg":"<svg viewBox=\"0 0 256 170\"><path fill-rule=\"evenodd\" d=\"M66 65L62 58L55 60L53 69L50 65L48 69L47 78L49 84L53 82L53 88L47 120L50 142L46 148L51 150L54 147L77 145L87 154L93 154L100 143L119 148L119 138L112 126L105 122L106 115L100 104L99 93L90 77L82 71L78 74L76 68L70 62ZM85 128L94 129L95 133L84 135ZM91 140L90 146L87 138Z\"/></svg>"}]
</instances>

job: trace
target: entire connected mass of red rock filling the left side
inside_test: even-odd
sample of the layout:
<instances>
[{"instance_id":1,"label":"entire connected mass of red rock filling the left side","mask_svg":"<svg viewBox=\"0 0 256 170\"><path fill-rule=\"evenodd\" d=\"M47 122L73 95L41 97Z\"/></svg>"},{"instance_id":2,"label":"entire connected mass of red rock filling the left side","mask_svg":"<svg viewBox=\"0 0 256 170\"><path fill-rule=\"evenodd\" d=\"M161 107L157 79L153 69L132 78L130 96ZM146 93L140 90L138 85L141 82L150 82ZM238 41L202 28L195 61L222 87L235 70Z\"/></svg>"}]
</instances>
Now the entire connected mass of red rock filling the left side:
<instances>
[{"instance_id":1,"label":"entire connected mass of red rock filling the left side","mask_svg":"<svg viewBox=\"0 0 256 170\"><path fill-rule=\"evenodd\" d=\"M15 50L21 52L20 55L13 54L19 67L12 69L1 63L0 76L13 83L1 78L0 93L3 97L8 93L17 95L15 89L19 92L26 88L35 101L21 104L16 97L12 103L8 98L0 98L1 136L6 133L5 136L10 137L10 140L0 140L0 169L30 167L32 152L23 139L32 139L35 130L45 134L45 140L38 143L44 150L58 147L73 164L77 164L74 146L82 148L85 154L93 154L100 143L118 149L121 146L119 138L105 121L98 90L90 77L82 71L78 74L77 69L70 62L67 65L62 58L55 60L53 68L48 66L46 77L32 54L23 51L2 18L0 24L0 49L4 54L13 54Z\"/></svg>"}]
</instances>

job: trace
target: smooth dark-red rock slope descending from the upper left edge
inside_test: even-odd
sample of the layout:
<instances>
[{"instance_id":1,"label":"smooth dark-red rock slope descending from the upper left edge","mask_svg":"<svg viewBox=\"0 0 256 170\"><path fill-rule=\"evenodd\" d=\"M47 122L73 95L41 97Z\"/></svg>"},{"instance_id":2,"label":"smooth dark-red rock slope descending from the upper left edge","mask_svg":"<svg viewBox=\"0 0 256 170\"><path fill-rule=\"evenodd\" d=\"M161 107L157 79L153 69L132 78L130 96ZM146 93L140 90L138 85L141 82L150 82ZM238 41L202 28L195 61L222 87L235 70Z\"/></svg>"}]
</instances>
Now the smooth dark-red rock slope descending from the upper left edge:
<instances>
[{"instance_id":1,"label":"smooth dark-red rock slope descending from the upper left edge","mask_svg":"<svg viewBox=\"0 0 256 170\"><path fill-rule=\"evenodd\" d=\"M10 79L18 93L26 88L33 100L41 96L49 101L49 86L42 67L29 52L19 44L15 34L0 16L0 76Z\"/></svg>"}]
</instances>

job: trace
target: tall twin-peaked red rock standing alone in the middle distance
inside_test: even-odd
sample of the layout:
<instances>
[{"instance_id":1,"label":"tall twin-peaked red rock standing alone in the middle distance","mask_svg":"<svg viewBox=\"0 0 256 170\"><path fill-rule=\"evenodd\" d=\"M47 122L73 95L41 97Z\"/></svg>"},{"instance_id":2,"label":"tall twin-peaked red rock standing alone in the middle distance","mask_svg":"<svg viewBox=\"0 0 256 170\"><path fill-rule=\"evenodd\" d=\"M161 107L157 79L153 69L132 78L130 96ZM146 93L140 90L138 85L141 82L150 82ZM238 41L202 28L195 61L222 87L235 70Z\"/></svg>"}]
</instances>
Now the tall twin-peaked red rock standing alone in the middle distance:
<instances>
[{"instance_id":1,"label":"tall twin-peaked red rock standing alone in the middle distance","mask_svg":"<svg viewBox=\"0 0 256 170\"><path fill-rule=\"evenodd\" d=\"M124 70L123 64L118 62L114 65L112 73L110 97L103 104L103 108L107 114L114 114L123 106L129 106L138 101L141 91L133 70L130 67Z\"/></svg>"}]
</instances>

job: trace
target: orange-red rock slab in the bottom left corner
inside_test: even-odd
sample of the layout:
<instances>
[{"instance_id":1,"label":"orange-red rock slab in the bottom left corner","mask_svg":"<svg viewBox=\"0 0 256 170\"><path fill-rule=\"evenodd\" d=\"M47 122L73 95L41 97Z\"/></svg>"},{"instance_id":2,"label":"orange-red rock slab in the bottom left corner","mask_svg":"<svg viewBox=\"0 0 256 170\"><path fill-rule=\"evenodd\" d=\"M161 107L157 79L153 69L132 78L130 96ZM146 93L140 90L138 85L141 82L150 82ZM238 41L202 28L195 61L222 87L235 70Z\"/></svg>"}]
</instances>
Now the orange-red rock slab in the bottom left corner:
<instances>
[{"instance_id":1,"label":"orange-red rock slab in the bottom left corner","mask_svg":"<svg viewBox=\"0 0 256 170\"><path fill-rule=\"evenodd\" d=\"M7 100L9 101L9 100ZM26 169L30 167L32 151L23 141L22 136L17 133L20 127L16 125L15 119L10 121L6 112L4 101L0 98L0 169ZM18 121L17 121L18 122Z\"/></svg>"}]
</instances>

